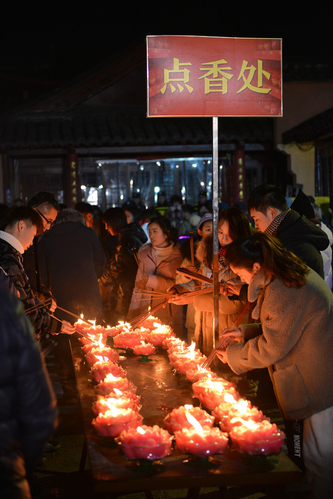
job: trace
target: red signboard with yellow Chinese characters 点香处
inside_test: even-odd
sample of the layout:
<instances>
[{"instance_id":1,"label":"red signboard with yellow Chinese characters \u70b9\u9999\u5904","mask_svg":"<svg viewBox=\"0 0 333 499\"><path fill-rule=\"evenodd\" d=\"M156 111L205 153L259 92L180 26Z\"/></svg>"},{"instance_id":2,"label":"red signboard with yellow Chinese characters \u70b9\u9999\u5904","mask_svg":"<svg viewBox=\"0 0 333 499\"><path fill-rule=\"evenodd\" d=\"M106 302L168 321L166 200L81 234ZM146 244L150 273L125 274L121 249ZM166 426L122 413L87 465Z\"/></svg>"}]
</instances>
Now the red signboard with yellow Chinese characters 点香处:
<instances>
[{"instance_id":1,"label":"red signboard with yellow Chinese characters \u70b9\u9999\u5904","mask_svg":"<svg viewBox=\"0 0 333 499\"><path fill-rule=\"evenodd\" d=\"M147 116L282 116L281 38L147 36Z\"/></svg>"}]
</instances>

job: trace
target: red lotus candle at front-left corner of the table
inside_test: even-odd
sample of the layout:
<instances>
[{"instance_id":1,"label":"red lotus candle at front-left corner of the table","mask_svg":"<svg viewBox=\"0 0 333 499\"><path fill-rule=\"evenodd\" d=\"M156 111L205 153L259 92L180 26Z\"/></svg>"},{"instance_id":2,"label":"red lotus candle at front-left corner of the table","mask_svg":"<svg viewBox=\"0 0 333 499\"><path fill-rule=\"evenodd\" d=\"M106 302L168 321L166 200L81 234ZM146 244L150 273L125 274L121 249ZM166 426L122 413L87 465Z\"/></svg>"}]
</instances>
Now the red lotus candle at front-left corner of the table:
<instances>
[{"instance_id":1,"label":"red lotus candle at front-left corner of the table","mask_svg":"<svg viewBox=\"0 0 333 499\"><path fill-rule=\"evenodd\" d=\"M129 459L161 459L171 453L173 437L158 425L125 430L117 439Z\"/></svg>"}]
</instances>

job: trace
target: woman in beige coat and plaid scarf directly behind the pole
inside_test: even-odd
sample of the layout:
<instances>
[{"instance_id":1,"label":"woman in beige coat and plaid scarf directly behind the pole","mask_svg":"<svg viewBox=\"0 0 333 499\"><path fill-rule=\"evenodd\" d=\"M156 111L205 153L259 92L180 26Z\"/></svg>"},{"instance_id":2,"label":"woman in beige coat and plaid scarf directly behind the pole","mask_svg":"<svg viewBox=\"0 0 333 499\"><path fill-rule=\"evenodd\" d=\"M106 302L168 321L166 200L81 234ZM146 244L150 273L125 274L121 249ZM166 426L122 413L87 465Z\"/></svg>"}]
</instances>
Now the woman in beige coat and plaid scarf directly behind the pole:
<instances>
[{"instance_id":1,"label":"woman in beige coat and plaid scarf directly behind the pole","mask_svg":"<svg viewBox=\"0 0 333 499\"><path fill-rule=\"evenodd\" d=\"M239 237L248 237L251 235L249 221L244 212L238 208L227 208L219 215L219 282L225 283L227 280L235 278L236 275L232 272L225 260L225 252L235 239ZM212 235L203 238L199 242L196 257L201 261L199 273L212 277L213 274L213 237ZM202 287L207 287L207 284L201 284ZM193 281L185 284L185 286L193 285ZM224 286L223 286L224 287ZM182 292L177 285L177 291ZM188 298L183 298L180 295L175 298L170 298L174 303L188 303ZM192 298L195 308L195 333L194 341L199 346L201 351L208 355L214 346L214 301L213 292L202 294ZM237 318L244 306L243 301L230 300L228 296L221 293L219 295L219 332L221 333L227 326ZM247 315L243 321L247 321Z\"/></svg>"}]
</instances>

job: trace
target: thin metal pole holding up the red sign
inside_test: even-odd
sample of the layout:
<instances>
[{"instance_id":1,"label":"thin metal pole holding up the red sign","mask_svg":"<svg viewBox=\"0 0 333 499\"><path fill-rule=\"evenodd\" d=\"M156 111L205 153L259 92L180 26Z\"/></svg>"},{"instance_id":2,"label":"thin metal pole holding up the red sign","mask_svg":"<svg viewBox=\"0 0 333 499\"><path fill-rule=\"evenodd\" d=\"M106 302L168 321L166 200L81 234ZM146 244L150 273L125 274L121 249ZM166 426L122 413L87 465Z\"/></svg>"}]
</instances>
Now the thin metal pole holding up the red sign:
<instances>
[{"instance_id":1,"label":"thin metal pole holding up the red sign","mask_svg":"<svg viewBox=\"0 0 333 499\"><path fill-rule=\"evenodd\" d=\"M218 118L213 117L213 347L219 339L219 142Z\"/></svg>"}]
</instances>

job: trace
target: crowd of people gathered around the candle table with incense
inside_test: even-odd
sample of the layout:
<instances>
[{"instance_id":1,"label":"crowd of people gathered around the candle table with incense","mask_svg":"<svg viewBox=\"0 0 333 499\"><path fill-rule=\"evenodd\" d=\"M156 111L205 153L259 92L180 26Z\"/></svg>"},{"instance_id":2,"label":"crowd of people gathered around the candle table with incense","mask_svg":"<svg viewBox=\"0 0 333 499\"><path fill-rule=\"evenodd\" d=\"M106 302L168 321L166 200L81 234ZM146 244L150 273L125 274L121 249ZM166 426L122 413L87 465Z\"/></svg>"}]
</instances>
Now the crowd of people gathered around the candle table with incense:
<instances>
[{"instance_id":1,"label":"crowd of people gathered around the candle table with incense","mask_svg":"<svg viewBox=\"0 0 333 499\"><path fill-rule=\"evenodd\" d=\"M304 422L304 462L313 497L325 499L333 486L328 445L333 436L333 236L315 210L302 191L289 206L270 185L252 191L247 213L221 206L219 335L227 346L218 355L237 374L269 368L286 421ZM83 313L99 324L130 322L152 305L149 291L154 290L170 296L167 303L161 298L164 306L156 315L208 355L215 339L213 293L191 296L188 291L209 286L213 260L212 204L206 192L199 193L194 207L177 195L167 202L160 192L148 210L136 195L102 213L86 202L60 206L52 194L41 192L27 206L1 208L0 356L8 366L0 371L0 398L6 401L0 407L4 497L29 497L26 476L56 421L38 342L56 335L62 402L75 400L68 341L74 316ZM190 275L177 273L179 267ZM251 311L225 333L248 301ZM13 341L19 348L11 347ZM24 373L24 383L31 380L31 386L16 393ZM35 383L40 388L32 393Z\"/></svg>"}]
</instances>

